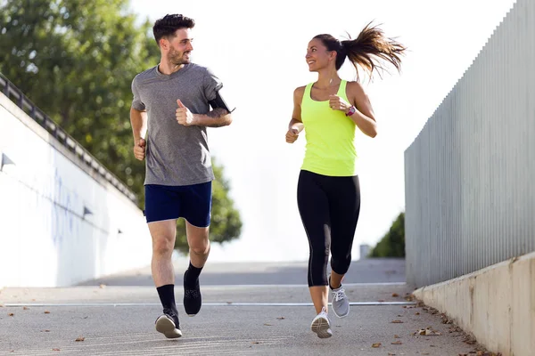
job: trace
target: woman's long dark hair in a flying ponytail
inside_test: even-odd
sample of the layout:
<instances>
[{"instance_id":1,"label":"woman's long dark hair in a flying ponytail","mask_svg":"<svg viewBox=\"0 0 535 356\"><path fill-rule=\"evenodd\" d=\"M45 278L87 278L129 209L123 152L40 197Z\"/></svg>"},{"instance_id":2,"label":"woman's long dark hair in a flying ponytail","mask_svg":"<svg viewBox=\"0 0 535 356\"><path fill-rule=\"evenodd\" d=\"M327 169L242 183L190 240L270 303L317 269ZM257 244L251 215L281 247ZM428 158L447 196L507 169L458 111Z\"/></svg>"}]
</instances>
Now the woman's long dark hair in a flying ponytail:
<instances>
[{"instance_id":1,"label":"woman's long dark hair in a flying ponytail","mask_svg":"<svg viewBox=\"0 0 535 356\"><path fill-rule=\"evenodd\" d=\"M358 65L368 73L370 78L374 70L386 70L381 61L378 60L390 62L399 71L401 67L400 55L407 48L396 40L384 36L382 29L371 25L371 22L368 23L355 39L339 41L326 34L317 35L314 38L321 40L328 51L336 51L336 70L341 69L343 62L349 58L357 69L357 78ZM381 73L379 75L381 76Z\"/></svg>"}]
</instances>

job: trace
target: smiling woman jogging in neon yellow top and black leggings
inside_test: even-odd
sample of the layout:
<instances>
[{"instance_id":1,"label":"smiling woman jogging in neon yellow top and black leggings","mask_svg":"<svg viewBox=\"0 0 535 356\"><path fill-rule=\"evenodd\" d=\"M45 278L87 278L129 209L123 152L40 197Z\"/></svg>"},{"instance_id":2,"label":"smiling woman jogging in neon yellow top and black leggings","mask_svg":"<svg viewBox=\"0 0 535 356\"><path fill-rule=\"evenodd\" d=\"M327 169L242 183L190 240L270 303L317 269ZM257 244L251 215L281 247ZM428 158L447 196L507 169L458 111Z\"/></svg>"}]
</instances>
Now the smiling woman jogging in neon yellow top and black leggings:
<instances>
[{"instance_id":1,"label":"smiling woman jogging in neon yellow top and black leggings","mask_svg":"<svg viewBox=\"0 0 535 356\"><path fill-rule=\"evenodd\" d=\"M399 70L404 51L403 45L370 24L353 40L315 36L305 58L309 71L317 72L317 81L293 93L286 142L295 142L306 128L297 200L309 238L309 290L317 312L310 328L320 338L333 336L327 316L327 285L333 294L334 314L343 318L350 312L342 279L350 267L360 208L356 127L370 137L377 134L374 111L362 86L358 81L342 80L338 70L346 58L357 69L357 79L358 67L371 77L375 69L383 69L381 60ZM332 272L327 279L329 250Z\"/></svg>"}]
</instances>

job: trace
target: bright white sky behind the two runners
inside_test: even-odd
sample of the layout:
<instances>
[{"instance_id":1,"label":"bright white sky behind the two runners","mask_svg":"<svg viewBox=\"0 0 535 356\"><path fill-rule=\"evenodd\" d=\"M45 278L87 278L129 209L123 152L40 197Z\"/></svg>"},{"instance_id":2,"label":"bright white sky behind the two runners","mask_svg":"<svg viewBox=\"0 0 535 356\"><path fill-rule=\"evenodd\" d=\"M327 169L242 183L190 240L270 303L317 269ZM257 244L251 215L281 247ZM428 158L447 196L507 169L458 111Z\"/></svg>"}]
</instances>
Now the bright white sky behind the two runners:
<instances>
[{"instance_id":1,"label":"bright white sky behind the two runners","mask_svg":"<svg viewBox=\"0 0 535 356\"><path fill-rule=\"evenodd\" d=\"M374 20L410 52L402 73L363 83L379 134L359 134L361 210L353 244L374 244L405 209L404 151L480 52L514 0L243 1L132 0L154 21L167 13L195 20L193 61L223 81L234 122L209 129L210 150L225 166L243 218L241 239L212 246L210 261L305 261L309 244L296 203L304 135L284 134L292 93L317 79L304 60L320 33L356 37ZM156 45L154 43L154 45ZM354 80L346 62L339 72Z\"/></svg>"}]
</instances>

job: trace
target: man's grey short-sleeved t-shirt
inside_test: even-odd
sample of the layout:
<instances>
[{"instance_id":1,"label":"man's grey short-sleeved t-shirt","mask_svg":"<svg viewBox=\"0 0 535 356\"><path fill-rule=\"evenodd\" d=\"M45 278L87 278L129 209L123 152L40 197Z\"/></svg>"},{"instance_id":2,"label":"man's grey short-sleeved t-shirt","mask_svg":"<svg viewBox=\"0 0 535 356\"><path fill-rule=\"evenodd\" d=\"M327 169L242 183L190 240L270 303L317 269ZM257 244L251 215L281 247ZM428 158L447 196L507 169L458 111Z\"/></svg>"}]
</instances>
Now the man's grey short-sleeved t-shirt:
<instances>
[{"instance_id":1,"label":"man's grey short-sleeved t-shirt","mask_svg":"<svg viewBox=\"0 0 535 356\"><path fill-rule=\"evenodd\" d=\"M214 179L206 127L180 125L175 113L177 99L193 114L208 113L221 86L210 69L193 63L171 75L156 66L134 78L132 108L146 109L148 115L144 184L177 186Z\"/></svg>"}]
</instances>

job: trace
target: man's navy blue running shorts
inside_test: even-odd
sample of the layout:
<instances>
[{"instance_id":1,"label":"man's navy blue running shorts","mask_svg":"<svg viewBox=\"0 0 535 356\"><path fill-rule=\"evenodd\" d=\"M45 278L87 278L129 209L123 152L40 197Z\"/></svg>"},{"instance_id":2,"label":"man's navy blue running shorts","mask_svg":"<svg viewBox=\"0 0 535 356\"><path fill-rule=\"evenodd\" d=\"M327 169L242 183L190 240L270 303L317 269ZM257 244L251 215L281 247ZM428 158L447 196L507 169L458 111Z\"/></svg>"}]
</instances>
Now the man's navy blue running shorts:
<instances>
[{"instance_id":1,"label":"man's navy blue running shorts","mask_svg":"<svg viewBox=\"0 0 535 356\"><path fill-rule=\"evenodd\" d=\"M211 182L193 185L145 185L147 223L185 218L199 228L210 226Z\"/></svg>"}]
</instances>

